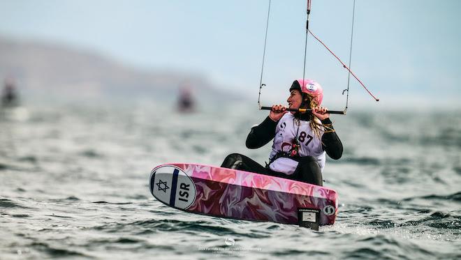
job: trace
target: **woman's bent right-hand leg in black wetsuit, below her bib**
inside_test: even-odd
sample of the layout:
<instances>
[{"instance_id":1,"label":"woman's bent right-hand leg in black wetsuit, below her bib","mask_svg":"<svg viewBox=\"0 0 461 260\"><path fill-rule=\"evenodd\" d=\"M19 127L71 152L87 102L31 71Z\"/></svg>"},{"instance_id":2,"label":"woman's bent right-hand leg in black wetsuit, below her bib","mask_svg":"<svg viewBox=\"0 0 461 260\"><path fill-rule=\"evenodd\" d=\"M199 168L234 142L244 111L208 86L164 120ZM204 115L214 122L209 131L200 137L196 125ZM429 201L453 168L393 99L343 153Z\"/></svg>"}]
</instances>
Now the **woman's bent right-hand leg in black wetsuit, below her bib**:
<instances>
[{"instance_id":1,"label":"woman's bent right-hand leg in black wetsuit, below her bib","mask_svg":"<svg viewBox=\"0 0 461 260\"><path fill-rule=\"evenodd\" d=\"M298 167L293 173L293 179L314 185L323 185L322 171L319 162L313 156L300 158Z\"/></svg>"}]
</instances>

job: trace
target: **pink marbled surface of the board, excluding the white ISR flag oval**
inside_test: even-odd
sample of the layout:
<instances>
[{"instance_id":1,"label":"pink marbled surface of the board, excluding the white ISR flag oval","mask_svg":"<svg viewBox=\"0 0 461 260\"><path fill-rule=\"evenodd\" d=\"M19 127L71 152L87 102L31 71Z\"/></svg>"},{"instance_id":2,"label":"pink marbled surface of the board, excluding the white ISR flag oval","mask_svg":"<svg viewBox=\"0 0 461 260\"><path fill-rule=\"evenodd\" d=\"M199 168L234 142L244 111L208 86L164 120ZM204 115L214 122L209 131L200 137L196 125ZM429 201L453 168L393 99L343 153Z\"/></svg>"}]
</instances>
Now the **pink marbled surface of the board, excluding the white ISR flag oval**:
<instances>
[{"instance_id":1,"label":"pink marbled surface of the board, excluding the white ISR flag oval","mask_svg":"<svg viewBox=\"0 0 461 260\"><path fill-rule=\"evenodd\" d=\"M159 167L164 166L182 169L196 187L195 200L184 211L298 224L298 208L316 208L321 211L321 225L335 222L337 193L323 186L209 165L173 163Z\"/></svg>"}]
</instances>

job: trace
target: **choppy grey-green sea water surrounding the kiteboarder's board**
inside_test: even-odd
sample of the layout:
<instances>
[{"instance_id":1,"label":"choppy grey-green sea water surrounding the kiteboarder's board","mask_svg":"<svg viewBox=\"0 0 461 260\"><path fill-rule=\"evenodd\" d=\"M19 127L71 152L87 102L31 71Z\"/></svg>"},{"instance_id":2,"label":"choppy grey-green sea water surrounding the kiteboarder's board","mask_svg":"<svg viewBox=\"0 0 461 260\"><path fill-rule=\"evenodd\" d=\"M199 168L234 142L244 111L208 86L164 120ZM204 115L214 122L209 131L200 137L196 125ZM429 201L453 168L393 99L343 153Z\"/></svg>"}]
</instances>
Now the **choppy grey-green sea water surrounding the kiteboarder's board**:
<instances>
[{"instance_id":1,"label":"choppy grey-green sea water surrounding the kiteboarder's board","mask_svg":"<svg viewBox=\"0 0 461 260\"><path fill-rule=\"evenodd\" d=\"M460 259L460 112L332 116L344 145L324 185L339 194L319 231L185 213L156 201L168 162L264 164L244 142L255 105L180 114L155 102L23 107L0 117L0 259Z\"/></svg>"}]
</instances>

